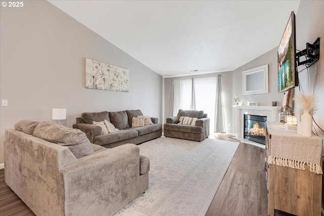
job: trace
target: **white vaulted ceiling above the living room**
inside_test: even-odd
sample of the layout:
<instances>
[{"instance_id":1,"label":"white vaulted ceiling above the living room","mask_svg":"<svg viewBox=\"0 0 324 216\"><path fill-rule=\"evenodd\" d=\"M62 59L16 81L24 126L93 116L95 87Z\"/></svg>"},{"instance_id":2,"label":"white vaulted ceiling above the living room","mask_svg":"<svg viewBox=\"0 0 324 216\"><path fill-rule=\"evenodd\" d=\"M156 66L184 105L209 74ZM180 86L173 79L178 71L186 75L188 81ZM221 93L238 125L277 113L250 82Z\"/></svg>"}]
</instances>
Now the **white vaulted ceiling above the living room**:
<instances>
[{"instance_id":1,"label":"white vaulted ceiling above the living room","mask_svg":"<svg viewBox=\"0 0 324 216\"><path fill-rule=\"evenodd\" d=\"M279 45L290 13L297 14L300 3L49 2L163 77L231 71L244 65ZM189 72L194 69L198 72Z\"/></svg>"}]
</instances>

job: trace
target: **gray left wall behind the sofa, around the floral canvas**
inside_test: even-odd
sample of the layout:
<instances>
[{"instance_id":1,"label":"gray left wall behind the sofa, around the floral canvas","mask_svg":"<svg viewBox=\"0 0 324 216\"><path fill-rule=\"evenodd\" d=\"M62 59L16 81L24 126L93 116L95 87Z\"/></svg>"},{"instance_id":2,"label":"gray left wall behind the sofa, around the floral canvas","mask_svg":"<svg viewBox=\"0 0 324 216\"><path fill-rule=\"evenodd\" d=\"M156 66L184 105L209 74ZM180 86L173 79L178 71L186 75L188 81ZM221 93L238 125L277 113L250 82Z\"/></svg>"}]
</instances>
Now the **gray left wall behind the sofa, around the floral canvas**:
<instances>
[{"instance_id":1,"label":"gray left wall behind the sofa, around the floral canvas","mask_svg":"<svg viewBox=\"0 0 324 216\"><path fill-rule=\"evenodd\" d=\"M47 1L1 7L0 164L5 129L21 119L52 121L67 109L72 127L83 112L140 109L162 118L163 78ZM130 70L129 92L85 88L85 58Z\"/></svg>"}]
</instances>

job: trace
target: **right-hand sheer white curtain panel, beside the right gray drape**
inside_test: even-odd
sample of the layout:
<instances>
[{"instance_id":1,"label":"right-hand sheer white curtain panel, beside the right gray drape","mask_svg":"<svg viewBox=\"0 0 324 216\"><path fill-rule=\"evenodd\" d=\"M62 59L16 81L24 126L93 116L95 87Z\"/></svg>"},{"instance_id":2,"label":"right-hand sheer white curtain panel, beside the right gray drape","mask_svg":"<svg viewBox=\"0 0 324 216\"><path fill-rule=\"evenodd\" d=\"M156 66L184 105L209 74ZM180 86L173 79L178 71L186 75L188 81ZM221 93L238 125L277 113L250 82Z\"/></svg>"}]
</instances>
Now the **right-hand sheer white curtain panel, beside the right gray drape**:
<instances>
[{"instance_id":1,"label":"right-hand sheer white curtain panel, beside the right gray drape","mask_svg":"<svg viewBox=\"0 0 324 216\"><path fill-rule=\"evenodd\" d=\"M194 79L196 110L203 110L210 118L210 132L214 133L217 77Z\"/></svg>"}]
</instances>

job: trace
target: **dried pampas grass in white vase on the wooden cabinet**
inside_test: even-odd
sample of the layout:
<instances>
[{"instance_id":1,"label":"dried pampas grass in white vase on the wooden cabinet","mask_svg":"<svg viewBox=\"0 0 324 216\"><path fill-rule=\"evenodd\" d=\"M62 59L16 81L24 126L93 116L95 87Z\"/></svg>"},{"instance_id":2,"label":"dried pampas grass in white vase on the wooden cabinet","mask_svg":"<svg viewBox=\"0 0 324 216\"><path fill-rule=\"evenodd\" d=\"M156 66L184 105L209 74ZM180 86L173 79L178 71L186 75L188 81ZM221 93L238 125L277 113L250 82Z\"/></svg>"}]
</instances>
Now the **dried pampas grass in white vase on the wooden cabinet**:
<instances>
[{"instance_id":1,"label":"dried pampas grass in white vase on the wooden cabinet","mask_svg":"<svg viewBox=\"0 0 324 216\"><path fill-rule=\"evenodd\" d=\"M314 109L314 94L301 93L295 97L296 102L303 110L303 115L301 116L301 135L311 136L312 135L312 116L309 114L310 111Z\"/></svg>"}]
</instances>

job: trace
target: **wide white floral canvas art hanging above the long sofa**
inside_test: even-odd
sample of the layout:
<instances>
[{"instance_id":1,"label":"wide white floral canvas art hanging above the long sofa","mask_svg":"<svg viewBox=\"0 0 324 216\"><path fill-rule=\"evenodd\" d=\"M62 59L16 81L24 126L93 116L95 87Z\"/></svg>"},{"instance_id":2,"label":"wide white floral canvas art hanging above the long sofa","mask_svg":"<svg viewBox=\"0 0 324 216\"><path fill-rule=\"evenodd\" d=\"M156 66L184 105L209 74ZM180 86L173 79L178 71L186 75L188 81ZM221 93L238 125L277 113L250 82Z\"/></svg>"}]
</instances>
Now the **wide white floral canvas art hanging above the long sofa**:
<instances>
[{"instance_id":1,"label":"wide white floral canvas art hanging above the long sofa","mask_svg":"<svg viewBox=\"0 0 324 216\"><path fill-rule=\"evenodd\" d=\"M86 58L86 88L128 92L129 70Z\"/></svg>"}]
</instances>

